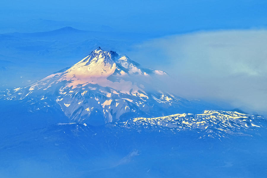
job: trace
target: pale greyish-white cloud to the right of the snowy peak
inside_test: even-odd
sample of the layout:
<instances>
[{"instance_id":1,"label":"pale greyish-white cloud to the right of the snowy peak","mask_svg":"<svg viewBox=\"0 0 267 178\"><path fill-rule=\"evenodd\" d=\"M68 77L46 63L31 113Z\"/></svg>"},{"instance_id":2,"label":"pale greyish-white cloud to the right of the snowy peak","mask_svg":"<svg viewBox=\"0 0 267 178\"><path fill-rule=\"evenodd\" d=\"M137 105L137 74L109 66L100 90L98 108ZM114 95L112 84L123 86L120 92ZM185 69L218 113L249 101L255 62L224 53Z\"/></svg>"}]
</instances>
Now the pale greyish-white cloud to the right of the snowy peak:
<instances>
[{"instance_id":1,"label":"pale greyish-white cloud to the right of the snowy peak","mask_svg":"<svg viewBox=\"0 0 267 178\"><path fill-rule=\"evenodd\" d=\"M267 113L267 30L172 35L133 51L133 60L173 77L167 85L172 92Z\"/></svg>"}]
</instances>

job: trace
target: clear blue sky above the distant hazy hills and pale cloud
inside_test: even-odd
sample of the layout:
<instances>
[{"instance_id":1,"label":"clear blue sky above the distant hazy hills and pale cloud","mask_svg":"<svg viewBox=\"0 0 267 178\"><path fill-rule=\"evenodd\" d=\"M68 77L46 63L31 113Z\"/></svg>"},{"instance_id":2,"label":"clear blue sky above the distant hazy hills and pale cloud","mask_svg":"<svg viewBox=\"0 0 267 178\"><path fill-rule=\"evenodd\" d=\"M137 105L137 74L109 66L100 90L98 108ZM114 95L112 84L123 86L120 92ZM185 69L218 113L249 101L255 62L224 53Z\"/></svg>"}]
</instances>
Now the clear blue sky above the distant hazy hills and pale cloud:
<instances>
[{"instance_id":1,"label":"clear blue sky above the distant hazy hills and pale cloud","mask_svg":"<svg viewBox=\"0 0 267 178\"><path fill-rule=\"evenodd\" d=\"M136 1L1 1L3 28L28 20L68 21L86 30L90 24L118 31L168 35L198 30L248 29L267 26L267 3L258 0ZM34 27L33 27L34 28ZM26 29L25 29L26 30ZM30 29L27 29L30 30Z\"/></svg>"}]
</instances>

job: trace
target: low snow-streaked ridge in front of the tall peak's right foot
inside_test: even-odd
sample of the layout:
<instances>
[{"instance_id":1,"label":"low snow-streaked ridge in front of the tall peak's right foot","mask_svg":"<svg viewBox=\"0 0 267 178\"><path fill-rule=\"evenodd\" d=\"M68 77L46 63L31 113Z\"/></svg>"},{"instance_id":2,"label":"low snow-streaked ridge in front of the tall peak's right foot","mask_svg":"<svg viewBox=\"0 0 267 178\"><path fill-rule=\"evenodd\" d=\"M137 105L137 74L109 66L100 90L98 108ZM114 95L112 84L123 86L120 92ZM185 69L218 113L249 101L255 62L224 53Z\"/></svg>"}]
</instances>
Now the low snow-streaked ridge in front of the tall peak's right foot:
<instances>
[{"instance_id":1,"label":"low snow-streaked ridge in front of the tall peak's right foot","mask_svg":"<svg viewBox=\"0 0 267 178\"><path fill-rule=\"evenodd\" d=\"M267 128L262 116L242 114L239 112L205 110L201 114L175 114L163 117L137 117L124 122L115 123L119 127L129 129L150 128L160 130L196 131L201 137L222 138L231 135L249 135L247 131Z\"/></svg>"}]
</instances>

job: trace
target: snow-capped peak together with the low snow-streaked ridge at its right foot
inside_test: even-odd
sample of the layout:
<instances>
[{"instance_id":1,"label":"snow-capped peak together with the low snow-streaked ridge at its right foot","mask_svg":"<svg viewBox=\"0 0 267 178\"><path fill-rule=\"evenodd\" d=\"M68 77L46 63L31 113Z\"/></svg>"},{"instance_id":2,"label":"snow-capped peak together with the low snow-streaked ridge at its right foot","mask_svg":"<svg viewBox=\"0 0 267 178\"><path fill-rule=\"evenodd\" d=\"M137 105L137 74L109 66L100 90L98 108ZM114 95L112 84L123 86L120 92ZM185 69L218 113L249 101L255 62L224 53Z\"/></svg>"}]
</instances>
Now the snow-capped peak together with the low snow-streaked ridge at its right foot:
<instances>
[{"instance_id":1,"label":"snow-capped peak together with the low snow-streaked ridge at its right foot","mask_svg":"<svg viewBox=\"0 0 267 178\"><path fill-rule=\"evenodd\" d=\"M201 136L210 137L242 134L262 126L262 117L202 112L209 106L158 91L150 81L164 75L163 71L143 68L125 55L98 47L70 68L25 88L7 90L0 97L19 101L33 113L49 109L57 113L61 109L70 123L85 125L114 123L118 128L197 130Z\"/></svg>"}]
</instances>

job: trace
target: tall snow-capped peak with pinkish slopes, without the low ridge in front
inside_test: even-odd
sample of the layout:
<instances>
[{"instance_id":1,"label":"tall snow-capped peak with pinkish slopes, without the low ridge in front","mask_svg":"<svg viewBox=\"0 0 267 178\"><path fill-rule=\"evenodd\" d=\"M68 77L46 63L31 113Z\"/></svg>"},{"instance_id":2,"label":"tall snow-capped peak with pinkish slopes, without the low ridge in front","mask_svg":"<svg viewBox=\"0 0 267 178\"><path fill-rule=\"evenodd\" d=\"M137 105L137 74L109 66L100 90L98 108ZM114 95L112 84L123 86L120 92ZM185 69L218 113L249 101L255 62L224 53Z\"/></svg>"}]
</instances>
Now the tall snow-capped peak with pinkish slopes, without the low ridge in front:
<instances>
[{"instance_id":1,"label":"tall snow-capped peak with pinkish slopes, without the low ridge in front","mask_svg":"<svg viewBox=\"0 0 267 178\"><path fill-rule=\"evenodd\" d=\"M166 75L98 47L70 68L0 97L27 103L31 112L59 106L71 122L93 125L208 109L152 87L151 80Z\"/></svg>"}]
</instances>

